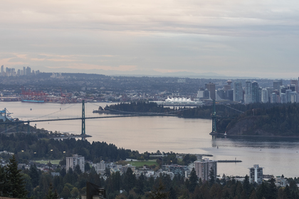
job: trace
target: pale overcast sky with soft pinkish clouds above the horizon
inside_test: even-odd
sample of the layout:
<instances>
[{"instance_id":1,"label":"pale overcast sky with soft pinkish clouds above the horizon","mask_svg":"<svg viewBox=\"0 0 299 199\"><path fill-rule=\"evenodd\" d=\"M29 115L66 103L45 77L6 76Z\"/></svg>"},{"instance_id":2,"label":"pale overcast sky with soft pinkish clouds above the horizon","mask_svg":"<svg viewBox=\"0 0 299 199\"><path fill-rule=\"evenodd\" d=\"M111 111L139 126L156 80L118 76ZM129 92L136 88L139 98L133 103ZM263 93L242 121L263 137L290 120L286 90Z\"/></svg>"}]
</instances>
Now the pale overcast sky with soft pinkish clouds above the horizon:
<instances>
[{"instance_id":1,"label":"pale overcast sky with soft pinkish clouds above the horizon","mask_svg":"<svg viewBox=\"0 0 299 199\"><path fill-rule=\"evenodd\" d=\"M298 53L295 0L1 0L5 68L298 78Z\"/></svg>"}]
</instances>

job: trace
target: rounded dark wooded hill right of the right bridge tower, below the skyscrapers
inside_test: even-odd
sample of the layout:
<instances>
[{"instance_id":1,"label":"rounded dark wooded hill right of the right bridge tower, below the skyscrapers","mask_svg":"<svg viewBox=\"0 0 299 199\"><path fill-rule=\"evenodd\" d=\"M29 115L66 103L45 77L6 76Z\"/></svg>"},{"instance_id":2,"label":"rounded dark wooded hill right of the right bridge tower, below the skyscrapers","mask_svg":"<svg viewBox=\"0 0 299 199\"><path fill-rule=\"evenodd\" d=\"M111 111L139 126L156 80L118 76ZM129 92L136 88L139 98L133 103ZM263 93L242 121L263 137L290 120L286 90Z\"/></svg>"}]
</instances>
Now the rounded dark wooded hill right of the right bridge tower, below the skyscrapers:
<instances>
[{"instance_id":1,"label":"rounded dark wooded hill right of the right bridge tower, below the skyscrapers","mask_svg":"<svg viewBox=\"0 0 299 199\"><path fill-rule=\"evenodd\" d=\"M225 130L239 135L299 136L299 106L277 104L251 109L233 119Z\"/></svg>"}]
</instances>

